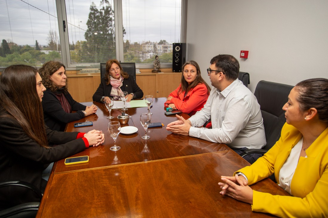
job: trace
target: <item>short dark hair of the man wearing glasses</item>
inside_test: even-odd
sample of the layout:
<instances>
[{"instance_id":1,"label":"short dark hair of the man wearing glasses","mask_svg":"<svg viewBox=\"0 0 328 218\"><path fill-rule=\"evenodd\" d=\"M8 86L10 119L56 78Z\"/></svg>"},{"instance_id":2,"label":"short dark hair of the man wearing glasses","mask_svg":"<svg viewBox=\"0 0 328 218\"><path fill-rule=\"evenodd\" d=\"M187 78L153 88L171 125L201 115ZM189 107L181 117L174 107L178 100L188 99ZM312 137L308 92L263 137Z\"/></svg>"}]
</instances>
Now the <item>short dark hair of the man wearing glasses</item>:
<instances>
[{"instance_id":1,"label":"short dark hair of the man wearing glasses","mask_svg":"<svg viewBox=\"0 0 328 218\"><path fill-rule=\"evenodd\" d=\"M215 64L216 70L225 74L227 80L234 81L238 78L239 62L232 55L217 55L211 59L211 64ZM218 72L215 72L217 74Z\"/></svg>"}]
</instances>

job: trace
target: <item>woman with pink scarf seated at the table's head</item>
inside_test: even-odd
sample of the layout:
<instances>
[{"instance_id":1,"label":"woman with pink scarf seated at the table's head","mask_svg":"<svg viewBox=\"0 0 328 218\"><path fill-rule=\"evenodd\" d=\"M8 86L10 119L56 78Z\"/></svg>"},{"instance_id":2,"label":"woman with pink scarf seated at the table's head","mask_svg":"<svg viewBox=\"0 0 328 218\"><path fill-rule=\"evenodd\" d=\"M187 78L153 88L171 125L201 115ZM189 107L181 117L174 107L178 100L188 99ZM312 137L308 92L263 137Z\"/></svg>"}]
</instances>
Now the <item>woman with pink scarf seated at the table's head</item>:
<instances>
[{"instance_id":1,"label":"woman with pink scarf seated at the table's head","mask_svg":"<svg viewBox=\"0 0 328 218\"><path fill-rule=\"evenodd\" d=\"M106 62L105 77L101 78L100 85L93 94L92 99L100 103L104 103L106 98L120 100L121 92L129 93L127 102L143 97L142 90L132 77L129 77L126 72L123 72L118 60L108 60Z\"/></svg>"}]
</instances>

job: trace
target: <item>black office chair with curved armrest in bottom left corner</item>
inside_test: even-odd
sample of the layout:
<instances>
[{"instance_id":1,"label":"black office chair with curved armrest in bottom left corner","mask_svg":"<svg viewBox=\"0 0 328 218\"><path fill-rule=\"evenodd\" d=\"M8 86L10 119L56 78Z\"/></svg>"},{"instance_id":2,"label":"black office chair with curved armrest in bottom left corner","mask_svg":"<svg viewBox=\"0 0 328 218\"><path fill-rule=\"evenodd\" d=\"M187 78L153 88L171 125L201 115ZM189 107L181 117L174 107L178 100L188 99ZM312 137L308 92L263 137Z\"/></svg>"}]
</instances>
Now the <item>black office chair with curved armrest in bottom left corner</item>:
<instances>
[{"instance_id":1,"label":"black office chair with curved armrest in bottom left corner","mask_svg":"<svg viewBox=\"0 0 328 218\"><path fill-rule=\"evenodd\" d=\"M41 191L36 188L34 185L28 182L16 180L16 181L6 181L6 182L1 182L0 183L0 188L4 188L7 186L19 186L19 187L24 187L26 189L29 189L33 191L36 196L40 199L42 199L42 193ZM10 196L8 196L8 199L10 199ZM0 218L3 217L10 217L10 218L26 218L26 217L35 217L36 213L38 212L39 206L40 206L40 201L39 202L28 202L28 203L23 203L19 204L4 210L0 211Z\"/></svg>"}]
</instances>

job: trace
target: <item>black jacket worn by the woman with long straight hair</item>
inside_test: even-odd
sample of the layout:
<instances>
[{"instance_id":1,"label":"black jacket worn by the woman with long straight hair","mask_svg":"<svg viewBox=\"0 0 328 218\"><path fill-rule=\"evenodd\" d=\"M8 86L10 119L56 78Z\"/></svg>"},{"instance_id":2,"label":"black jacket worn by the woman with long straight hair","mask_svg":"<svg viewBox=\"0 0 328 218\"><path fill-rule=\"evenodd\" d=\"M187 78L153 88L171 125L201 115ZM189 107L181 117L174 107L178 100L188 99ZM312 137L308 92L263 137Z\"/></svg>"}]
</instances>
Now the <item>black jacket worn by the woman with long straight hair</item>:
<instances>
[{"instance_id":1,"label":"black jacket worn by the woman with long straight hair","mask_svg":"<svg viewBox=\"0 0 328 218\"><path fill-rule=\"evenodd\" d=\"M82 138L76 139L78 132L57 132L46 127L47 139L51 147L44 148L29 138L13 118L2 117L0 129L0 180L26 181L42 192L47 184L47 181L42 179L42 171L49 163L67 158L86 148ZM53 146L55 144L57 146ZM26 190L2 188L0 208L37 201L38 198L31 191Z\"/></svg>"}]
</instances>

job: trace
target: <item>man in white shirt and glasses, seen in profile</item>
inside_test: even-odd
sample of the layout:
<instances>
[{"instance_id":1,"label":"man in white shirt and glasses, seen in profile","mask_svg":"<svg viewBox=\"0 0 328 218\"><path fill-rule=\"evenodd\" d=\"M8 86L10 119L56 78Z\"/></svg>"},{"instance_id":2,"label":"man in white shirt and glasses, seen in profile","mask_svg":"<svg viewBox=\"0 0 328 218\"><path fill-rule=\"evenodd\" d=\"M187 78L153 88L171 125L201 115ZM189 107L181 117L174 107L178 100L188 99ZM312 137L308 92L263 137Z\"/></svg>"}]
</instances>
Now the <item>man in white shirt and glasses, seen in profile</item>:
<instances>
[{"instance_id":1,"label":"man in white shirt and glasses, seen in profile","mask_svg":"<svg viewBox=\"0 0 328 218\"><path fill-rule=\"evenodd\" d=\"M266 140L260 106L254 94L238 80L238 60L231 55L217 55L210 63L207 73L213 88L204 108L188 120L176 115L178 120L166 129L227 144L238 154L249 148L262 148ZM195 127L210 118L212 129ZM253 163L260 156L251 154L245 159Z\"/></svg>"}]
</instances>

